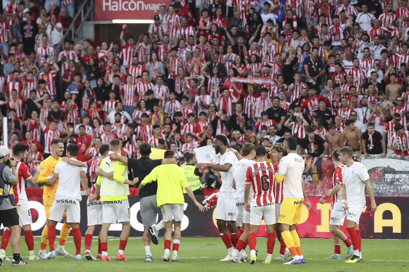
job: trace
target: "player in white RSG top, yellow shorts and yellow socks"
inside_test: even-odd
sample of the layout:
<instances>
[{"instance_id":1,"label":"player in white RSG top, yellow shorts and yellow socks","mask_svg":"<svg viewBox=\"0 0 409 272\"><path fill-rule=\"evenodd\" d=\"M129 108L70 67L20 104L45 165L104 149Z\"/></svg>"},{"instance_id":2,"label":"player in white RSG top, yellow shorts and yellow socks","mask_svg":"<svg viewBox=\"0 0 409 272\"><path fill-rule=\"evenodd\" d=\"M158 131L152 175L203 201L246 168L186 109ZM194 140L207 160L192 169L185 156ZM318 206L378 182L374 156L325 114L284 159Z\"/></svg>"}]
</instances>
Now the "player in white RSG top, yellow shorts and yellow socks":
<instances>
[{"instance_id":1,"label":"player in white RSG top, yellow shorts and yellow socks","mask_svg":"<svg viewBox=\"0 0 409 272\"><path fill-rule=\"evenodd\" d=\"M284 140L283 148L287 156L280 160L275 174L277 183L283 182L283 202L281 203L279 223L281 237L292 255L292 260L284 264L301 264L305 259L301 252L300 238L296 225L300 223L304 203L301 177L305 168L303 158L298 155L297 139L290 136Z\"/></svg>"}]
</instances>

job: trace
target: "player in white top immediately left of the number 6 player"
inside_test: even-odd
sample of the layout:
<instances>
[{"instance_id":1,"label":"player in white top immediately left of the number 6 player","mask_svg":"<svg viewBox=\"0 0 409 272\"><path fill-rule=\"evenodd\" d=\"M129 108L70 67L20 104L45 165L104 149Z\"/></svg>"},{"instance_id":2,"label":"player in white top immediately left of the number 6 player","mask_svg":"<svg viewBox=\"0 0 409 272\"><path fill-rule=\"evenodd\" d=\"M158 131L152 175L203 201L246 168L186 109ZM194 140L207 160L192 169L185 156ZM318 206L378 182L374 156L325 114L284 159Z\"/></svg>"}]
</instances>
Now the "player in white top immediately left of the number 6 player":
<instances>
[{"instance_id":1,"label":"player in white top immediately left of the number 6 player","mask_svg":"<svg viewBox=\"0 0 409 272\"><path fill-rule=\"evenodd\" d=\"M250 233L250 213L247 212L244 207L244 187L247 168L255 163L254 158L256 157L256 146L252 143L245 143L243 144L242 150L244 158L240 159L234 166L232 187L236 189L236 225L240 226L239 221L241 221L241 223L244 224L244 231L241 233L236 248L234 249L230 257L230 260L234 263L243 262L247 257L244 249L247 246L247 241ZM240 231L241 230L242 229L240 229Z\"/></svg>"}]
</instances>

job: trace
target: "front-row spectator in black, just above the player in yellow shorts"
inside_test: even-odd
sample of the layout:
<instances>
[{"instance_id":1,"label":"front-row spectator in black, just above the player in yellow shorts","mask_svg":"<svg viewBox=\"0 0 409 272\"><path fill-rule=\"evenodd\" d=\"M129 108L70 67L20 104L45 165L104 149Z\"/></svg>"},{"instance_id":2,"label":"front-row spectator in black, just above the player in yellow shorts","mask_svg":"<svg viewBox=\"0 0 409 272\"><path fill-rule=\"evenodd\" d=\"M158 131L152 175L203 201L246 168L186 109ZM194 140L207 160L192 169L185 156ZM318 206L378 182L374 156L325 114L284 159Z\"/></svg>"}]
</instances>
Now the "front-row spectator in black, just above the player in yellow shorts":
<instances>
[{"instance_id":1,"label":"front-row spectator in black, just above the player in yellow shorts","mask_svg":"<svg viewBox=\"0 0 409 272\"><path fill-rule=\"evenodd\" d=\"M315 134L314 128L308 128L307 137L301 139L298 148L301 156L305 155L307 158L320 157L322 159L328 150L328 144L319 135Z\"/></svg>"}]
</instances>

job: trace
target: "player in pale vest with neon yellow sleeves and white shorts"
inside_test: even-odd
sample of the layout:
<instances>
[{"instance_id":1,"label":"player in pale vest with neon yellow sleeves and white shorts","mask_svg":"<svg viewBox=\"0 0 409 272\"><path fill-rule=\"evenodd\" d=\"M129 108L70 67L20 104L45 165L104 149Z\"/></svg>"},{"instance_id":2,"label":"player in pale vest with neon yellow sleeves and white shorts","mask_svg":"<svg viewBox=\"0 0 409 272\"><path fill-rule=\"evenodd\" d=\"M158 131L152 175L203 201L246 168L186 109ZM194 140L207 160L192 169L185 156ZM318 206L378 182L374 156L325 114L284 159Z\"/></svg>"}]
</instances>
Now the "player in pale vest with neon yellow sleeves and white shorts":
<instances>
[{"instance_id":1,"label":"player in pale vest with neon yellow sleeves and white shorts","mask_svg":"<svg viewBox=\"0 0 409 272\"><path fill-rule=\"evenodd\" d=\"M112 139L109 142L112 152L121 153L121 143L119 139ZM109 152L108 152L109 153ZM104 172L113 172L113 179L99 175L94 195L101 195L102 201L102 228L100 231L102 261L110 261L108 256L108 229L111 224L122 223L122 232L119 237L119 249L116 259L118 261L128 261L124 256L126 243L128 242L130 230L129 211L129 185L135 185L138 178L128 180L126 164L115 161L110 157L101 160L99 164Z\"/></svg>"}]
</instances>

